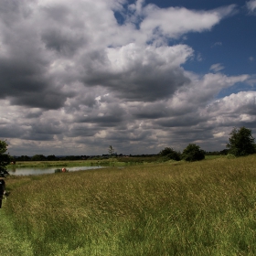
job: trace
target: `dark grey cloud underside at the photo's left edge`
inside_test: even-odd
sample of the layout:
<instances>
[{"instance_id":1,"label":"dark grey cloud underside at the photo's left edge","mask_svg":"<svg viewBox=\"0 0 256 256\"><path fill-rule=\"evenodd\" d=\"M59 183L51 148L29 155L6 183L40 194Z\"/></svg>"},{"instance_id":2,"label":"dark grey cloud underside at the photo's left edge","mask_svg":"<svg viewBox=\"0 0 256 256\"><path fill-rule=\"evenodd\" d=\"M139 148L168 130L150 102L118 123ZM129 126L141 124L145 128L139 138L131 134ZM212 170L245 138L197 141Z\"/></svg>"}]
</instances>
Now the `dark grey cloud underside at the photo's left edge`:
<instances>
[{"instance_id":1,"label":"dark grey cloud underside at the photo's left edge","mask_svg":"<svg viewBox=\"0 0 256 256\"><path fill-rule=\"evenodd\" d=\"M19 43L18 43L19 44ZM15 48L18 48L16 46ZM10 56L0 56L0 98L10 98L13 104L44 109L58 109L65 102L65 93L48 78L47 61L29 46L17 52L11 48ZM64 99L64 100L63 100Z\"/></svg>"}]
</instances>

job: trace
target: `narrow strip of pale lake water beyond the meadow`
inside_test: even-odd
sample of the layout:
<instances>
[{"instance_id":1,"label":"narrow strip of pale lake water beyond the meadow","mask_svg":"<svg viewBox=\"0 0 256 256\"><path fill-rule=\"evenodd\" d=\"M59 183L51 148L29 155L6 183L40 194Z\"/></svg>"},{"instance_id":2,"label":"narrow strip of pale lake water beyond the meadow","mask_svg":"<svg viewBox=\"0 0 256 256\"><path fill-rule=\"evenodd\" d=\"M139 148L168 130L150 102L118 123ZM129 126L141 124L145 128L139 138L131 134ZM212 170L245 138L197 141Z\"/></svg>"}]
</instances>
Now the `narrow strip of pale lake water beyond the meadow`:
<instances>
[{"instance_id":1,"label":"narrow strip of pale lake water beyond the meadow","mask_svg":"<svg viewBox=\"0 0 256 256\"><path fill-rule=\"evenodd\" d=\"M61 167L50 167L50 168L14 168L7 169L11 176L37 176L45 174L54 174L56 169L61 169ZM101 166L76 166L76 167L66 167L69 172L76 171L86 171L91 169L100 169Z\"/></svg>"}]
</instances>

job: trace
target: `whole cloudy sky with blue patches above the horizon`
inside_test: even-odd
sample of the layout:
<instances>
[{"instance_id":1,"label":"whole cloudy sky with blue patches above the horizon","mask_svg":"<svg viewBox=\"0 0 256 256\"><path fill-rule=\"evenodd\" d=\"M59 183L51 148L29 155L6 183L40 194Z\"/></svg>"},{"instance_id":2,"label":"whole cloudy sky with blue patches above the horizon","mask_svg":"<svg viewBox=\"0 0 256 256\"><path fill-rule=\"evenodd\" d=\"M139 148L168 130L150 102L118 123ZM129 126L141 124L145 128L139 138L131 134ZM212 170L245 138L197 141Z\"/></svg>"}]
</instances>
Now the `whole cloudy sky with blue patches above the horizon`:
<instances>
[{"instance_id":1,"label":"whole cloudy sky with blue patches above the horizon","mask_svg":"<svg viewBox=\"0 0 256 256\"><path fill-rule=\"evenodd\" d=\"M10 155L223 150L256 135L256 0L0 0Z\"/></svg>"}]
</instances>

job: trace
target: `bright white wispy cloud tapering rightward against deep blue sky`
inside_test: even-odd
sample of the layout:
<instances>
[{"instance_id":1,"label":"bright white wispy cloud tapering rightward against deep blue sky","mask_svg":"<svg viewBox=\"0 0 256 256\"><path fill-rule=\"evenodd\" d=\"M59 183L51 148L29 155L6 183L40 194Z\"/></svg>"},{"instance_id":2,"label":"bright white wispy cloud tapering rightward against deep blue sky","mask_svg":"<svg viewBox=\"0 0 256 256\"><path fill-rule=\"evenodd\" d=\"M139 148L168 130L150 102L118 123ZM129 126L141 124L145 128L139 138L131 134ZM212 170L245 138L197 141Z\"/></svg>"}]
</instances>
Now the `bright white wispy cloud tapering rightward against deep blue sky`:
<instances>
[{"instance_id":1,"label":"bright white wispy cloud tapering rightward against deep blue sky","mask_svg":"<svg viewBox=\"0 0 256 256\"><path fill-rule=\"evenodd\" d=\"M147 35L147 40L154 37L180 37L189 32L202 32L209 30L219 23L223 16L229 15L234 5L208 12L190 11L184 7L170 7L160 9L155 5L144 8L144 20L141 30Z\"/></svg>"}]
</instances>

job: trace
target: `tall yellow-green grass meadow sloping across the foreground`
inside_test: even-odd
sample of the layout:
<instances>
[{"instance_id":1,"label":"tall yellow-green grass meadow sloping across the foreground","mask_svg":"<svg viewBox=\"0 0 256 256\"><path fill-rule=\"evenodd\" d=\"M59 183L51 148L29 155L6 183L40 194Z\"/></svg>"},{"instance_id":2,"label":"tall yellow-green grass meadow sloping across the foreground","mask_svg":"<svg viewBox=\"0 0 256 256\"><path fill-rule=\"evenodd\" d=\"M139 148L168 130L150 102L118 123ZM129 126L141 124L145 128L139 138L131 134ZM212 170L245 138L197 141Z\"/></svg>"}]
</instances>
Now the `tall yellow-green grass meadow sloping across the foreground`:
<instances>
[{"instance_id":1,"label":"tall yellow-green grass meadow sloping across the foreground","mask_svg":"<svg viewBox=\"0 0 256 256\"><path fill-rule=\"evenodd\" d=\"M256 155L10 176L1 255L256 255Z\"/></svg>"}]
</instances>

